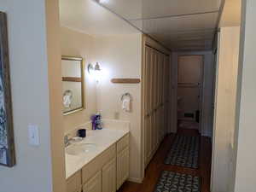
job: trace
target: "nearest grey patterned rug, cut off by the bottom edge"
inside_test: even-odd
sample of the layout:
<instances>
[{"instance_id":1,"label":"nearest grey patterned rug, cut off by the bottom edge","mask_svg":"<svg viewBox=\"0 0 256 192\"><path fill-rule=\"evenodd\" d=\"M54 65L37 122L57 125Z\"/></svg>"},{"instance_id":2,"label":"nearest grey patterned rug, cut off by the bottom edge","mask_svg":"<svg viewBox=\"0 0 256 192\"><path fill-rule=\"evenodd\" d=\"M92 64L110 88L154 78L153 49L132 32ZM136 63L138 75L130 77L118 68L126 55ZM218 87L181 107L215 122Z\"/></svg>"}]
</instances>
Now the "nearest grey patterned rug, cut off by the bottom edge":
<instances>
[{"instance_id":1,"label":"nearest grey patterned rug, cut off by the bottom edge","mask_svg":"<svg viewBox=\"0 0 256 192\"><path fill-rule=\"evenodd\" d=\"M200 177L163 171L154 192L200 192Z\"/></svg>"}]
</instances>

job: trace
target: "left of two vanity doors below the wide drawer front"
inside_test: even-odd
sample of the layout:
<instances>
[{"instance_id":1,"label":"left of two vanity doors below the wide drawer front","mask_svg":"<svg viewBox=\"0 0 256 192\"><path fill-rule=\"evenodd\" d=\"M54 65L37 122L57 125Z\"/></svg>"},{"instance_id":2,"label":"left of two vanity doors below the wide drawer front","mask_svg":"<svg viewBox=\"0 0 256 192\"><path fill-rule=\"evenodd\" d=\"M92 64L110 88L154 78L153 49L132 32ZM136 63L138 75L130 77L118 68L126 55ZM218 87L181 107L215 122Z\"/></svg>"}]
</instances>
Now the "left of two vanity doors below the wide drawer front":
<instances>
[{"instance_id":1,"label":"left of two vanity doors below the wide drawer front","mask_svg":"<svg viewBox=\"0 0 256 192\"><path fill-rule=\"evenodd\" d=\"M97 172L84 184L83 192L102 192L102 171Z\"/></svg>"}]
</instances>

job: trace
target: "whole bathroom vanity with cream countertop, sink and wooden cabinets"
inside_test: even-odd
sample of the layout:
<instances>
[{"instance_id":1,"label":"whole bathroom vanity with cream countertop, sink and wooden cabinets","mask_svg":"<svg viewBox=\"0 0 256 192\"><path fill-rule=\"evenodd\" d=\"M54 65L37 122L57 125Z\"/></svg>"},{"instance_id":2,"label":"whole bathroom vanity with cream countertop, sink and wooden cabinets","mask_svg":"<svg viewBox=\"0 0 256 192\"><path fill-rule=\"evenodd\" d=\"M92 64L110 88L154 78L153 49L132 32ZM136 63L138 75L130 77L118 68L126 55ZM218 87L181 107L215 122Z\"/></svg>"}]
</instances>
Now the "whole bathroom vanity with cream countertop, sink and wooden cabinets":
<instances>
[{"instance_id":1,"label":"whole bathroom vanity with cream countertop, sink and wooden cabinets","mask_svg":"<svg viewBox=\"0 0 256 192\"><path fill-rule=\"evenodd\" d=\"M88 131L66 148L67 192L114 192L129 177L129 131Z\"/></svg>"}]
</instances>

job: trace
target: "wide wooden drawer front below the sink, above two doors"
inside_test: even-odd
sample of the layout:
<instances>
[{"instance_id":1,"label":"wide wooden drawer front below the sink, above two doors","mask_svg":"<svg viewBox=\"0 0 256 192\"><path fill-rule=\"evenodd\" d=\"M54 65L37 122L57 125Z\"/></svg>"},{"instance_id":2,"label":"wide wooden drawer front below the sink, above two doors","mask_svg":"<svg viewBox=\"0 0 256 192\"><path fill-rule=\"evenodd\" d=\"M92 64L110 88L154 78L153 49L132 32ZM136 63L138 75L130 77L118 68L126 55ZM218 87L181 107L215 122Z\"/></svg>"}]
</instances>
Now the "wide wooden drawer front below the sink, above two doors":
<instances>
[{"instance_id":1,"label":"wide wooden drawer front below the sink, above two doors","mask_svg":"<svg viewBox=\"0 0 256 192\"><path fill-rule=\"evenodd\" d=\"M91 177L93 177L96 172L102 170L102 166L107 164L110 160L115 158L116 148L115 144L110 146L102 154L98 155L94 160L91 160L86 166L82 169L82 181L86 183Z\"/></svg>"}]
</instances>

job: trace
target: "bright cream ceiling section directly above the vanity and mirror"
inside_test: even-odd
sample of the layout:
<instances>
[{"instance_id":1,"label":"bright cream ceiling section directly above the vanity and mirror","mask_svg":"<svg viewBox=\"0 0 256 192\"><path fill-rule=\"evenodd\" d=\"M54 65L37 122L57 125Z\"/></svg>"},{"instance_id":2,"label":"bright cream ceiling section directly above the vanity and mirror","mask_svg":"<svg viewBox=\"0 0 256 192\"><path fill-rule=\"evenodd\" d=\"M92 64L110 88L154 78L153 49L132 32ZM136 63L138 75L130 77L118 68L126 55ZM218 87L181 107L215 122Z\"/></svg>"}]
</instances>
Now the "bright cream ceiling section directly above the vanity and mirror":
<instances>
[{"instance_id":1,"label":"bright cream ceiling section directly above the vanity and mirror","mask_svg":"<svg viewBox=\"0 0 256 192\"><path fill-rule=\"evenodd\" d=\"M92 0L60 0L61 26L90 35L139 32L129 23Z\"/></svg>"}]
</instances>

